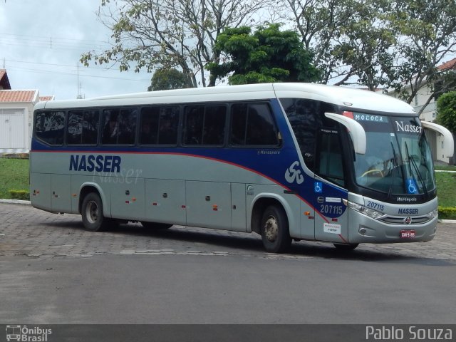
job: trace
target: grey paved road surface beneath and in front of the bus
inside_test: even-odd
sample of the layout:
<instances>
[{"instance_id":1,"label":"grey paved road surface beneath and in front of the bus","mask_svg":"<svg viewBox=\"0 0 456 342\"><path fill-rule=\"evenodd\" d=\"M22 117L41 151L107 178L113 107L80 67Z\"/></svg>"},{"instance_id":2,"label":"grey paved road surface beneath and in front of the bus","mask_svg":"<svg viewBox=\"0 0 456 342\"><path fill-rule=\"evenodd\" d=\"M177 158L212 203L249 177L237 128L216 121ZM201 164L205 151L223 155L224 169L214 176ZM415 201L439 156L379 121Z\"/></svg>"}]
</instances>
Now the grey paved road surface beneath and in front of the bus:
<instances>
[{"instance_id":1,"label":"grey paved road surface beneath and in front of the bus","mask_svg":"<svg viewBox=\"0 0 456 342\"><path fill-rule=\"evenodd\" d=\"M432 242L294 243L0 204L0 323L456 323L456 225Z\"/></svg>"}]
</instances>

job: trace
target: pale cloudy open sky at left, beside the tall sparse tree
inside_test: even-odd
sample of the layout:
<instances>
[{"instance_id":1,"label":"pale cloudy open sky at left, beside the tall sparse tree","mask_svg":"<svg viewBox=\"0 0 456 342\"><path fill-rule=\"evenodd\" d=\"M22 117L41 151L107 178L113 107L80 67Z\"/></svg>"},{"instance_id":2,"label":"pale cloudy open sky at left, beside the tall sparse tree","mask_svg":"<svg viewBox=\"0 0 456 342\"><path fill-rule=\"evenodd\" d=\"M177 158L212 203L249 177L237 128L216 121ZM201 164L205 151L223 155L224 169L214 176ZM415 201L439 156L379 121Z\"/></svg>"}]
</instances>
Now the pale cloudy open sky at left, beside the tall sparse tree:
<instances>
[{"instance_id":1,"label":"pale cloudy open sky at left, beside the tall sparse tree","mask_svg":"<svg viewBox=\"0 0 456 342\"><path fill-rule=\"evenodd\" d=\"M146 91L152 74L82 66L81 54L109 48L96 16L101 0L0 0L0 68L11 89L38 89L56 100Z\"/></svg>"}]
</instances>

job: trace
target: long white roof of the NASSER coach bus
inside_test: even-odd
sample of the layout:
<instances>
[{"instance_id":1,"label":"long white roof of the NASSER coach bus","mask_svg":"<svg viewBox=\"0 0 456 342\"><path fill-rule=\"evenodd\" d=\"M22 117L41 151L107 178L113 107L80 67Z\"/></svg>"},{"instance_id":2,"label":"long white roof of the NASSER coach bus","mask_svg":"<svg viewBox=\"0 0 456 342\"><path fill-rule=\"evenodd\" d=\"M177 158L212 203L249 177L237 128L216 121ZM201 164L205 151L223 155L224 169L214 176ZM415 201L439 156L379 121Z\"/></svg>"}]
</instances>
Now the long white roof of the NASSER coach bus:
<instances>
[{"instance_id":1,"label":"long white roof of the NASSER coach bus","mask_svg":"<svg viewBox=\"0 0 456 342\"><path fill-rule=\"evenodd\" d=\"M217 86L177 90L146 91L109 95L83 100L39 102L35 109L83 108L105 105L147 105L195 103L266 98L310 98L348 108L416 115L408 103L368 90L315 83L261 83L242 86Z\"/></svg>"}]
</instances>

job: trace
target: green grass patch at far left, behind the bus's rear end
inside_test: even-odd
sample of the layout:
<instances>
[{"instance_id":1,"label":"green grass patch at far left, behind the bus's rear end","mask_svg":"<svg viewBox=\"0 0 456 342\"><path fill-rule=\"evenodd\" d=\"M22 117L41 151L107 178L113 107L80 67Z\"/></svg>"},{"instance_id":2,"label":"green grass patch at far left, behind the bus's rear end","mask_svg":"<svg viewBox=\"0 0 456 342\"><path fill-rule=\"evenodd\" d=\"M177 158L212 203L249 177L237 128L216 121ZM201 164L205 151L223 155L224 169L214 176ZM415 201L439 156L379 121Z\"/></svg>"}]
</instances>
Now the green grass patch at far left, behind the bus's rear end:
<instances>
[{"instance_id":1,"label":"green grass patch at far left, behind the bus's rear end","mask_svg":"<svg viewBox=\"0 0 456 342\"><path fill-rule=\"evenodd\" d=\"M0 198L10 199L9 190L28 192L28 160L0 158Z\"/></svg>"}]
</instances>

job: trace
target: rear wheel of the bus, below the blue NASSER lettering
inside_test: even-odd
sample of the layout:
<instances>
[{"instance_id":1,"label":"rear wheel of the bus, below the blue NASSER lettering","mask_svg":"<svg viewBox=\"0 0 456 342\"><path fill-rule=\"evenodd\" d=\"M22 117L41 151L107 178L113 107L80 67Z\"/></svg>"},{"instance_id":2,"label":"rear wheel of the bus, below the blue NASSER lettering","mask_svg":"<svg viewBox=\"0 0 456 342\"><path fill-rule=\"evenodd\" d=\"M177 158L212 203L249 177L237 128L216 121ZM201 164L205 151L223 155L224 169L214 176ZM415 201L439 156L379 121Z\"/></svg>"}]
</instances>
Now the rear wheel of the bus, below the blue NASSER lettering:
<instances>
[{"instance_id":1,"label":"rear wheel of the bus, below the blue NASSER lettering","mask_svg":"<svg viewBox=\"0 0 456 342\"><path fill-rule=\"evenodd\" d=\"M81 216L84 227L89 232L100 232L110 224L110 219L104 217L103 202L101 202L100 195L95 192L90 192L84 197Z\"/></svg>"}]
</instances>

